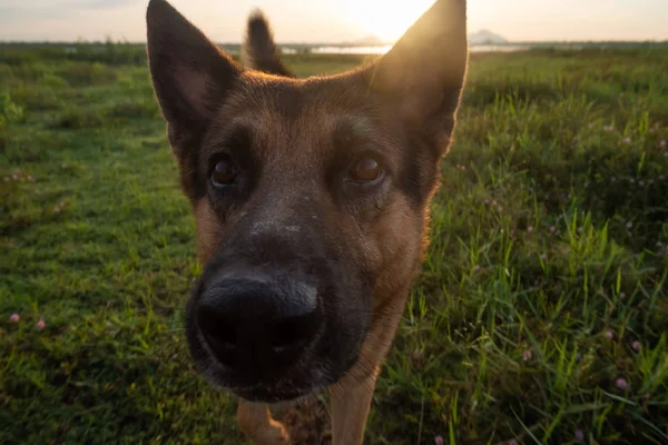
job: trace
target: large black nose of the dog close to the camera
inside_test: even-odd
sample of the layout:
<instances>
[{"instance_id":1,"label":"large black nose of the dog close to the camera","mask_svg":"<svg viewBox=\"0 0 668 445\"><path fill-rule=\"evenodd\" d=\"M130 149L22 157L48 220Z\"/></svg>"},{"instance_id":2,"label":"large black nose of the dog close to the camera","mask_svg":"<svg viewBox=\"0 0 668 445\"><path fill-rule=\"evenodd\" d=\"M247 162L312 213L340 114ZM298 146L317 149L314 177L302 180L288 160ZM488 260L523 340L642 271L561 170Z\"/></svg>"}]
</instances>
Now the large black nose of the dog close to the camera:
<instances>
[{"instance_id":1,"label":"large black nose of the dog close to the camera","mask_svg":"<svg viewBox=\"0 0 668 445\"><path fill-rule=\"evenodd\" d=\"M289 367L320 320L315 286L264 276L219 279L197 308L197 325L216 358L248 379Z\"/></svg>"}]
</instances>

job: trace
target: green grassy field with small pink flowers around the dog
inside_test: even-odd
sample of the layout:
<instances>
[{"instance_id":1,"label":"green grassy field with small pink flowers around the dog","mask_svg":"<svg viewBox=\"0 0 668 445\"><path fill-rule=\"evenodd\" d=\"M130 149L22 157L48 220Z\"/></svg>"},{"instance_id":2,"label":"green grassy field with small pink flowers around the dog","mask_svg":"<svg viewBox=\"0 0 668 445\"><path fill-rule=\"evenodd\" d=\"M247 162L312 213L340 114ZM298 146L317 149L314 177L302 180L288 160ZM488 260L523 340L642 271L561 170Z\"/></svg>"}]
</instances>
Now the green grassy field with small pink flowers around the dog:
<instances>
[{"instance_id":1,"label":"green grassy field with small pink flowers around the dog","mask_svg":"<svg viewBox=\"0 0 668 445\"><path fill-rule=\"evenodd\" d=\"M0 49L0 443L245 443L187 355L194 220L144 55ZM667 139L666 48L472 58L369 444L668 443ZM278 413L302 443L323 399Z\"/></svg>"}]
</instances>

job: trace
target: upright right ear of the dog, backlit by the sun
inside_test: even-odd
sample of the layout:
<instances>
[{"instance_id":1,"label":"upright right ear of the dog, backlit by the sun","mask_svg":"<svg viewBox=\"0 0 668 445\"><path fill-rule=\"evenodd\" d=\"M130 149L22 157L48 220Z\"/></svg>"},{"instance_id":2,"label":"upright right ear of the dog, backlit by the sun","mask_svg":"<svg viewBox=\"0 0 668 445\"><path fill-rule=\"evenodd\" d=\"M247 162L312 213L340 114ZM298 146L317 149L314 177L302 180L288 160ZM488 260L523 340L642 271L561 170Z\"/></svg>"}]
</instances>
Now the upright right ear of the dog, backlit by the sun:
<instances>
[{"instance_id":1,"label":"upright right ear of the dog, backlit by the sun","mask_svg":"<svg viewBox=\"0 0 668 445\"><path fill-rule=\"evenodd\" d=\"M468 53L465 0L438 0L363 75L442 156L450 147Z\"/></svg>"}]
</instances>

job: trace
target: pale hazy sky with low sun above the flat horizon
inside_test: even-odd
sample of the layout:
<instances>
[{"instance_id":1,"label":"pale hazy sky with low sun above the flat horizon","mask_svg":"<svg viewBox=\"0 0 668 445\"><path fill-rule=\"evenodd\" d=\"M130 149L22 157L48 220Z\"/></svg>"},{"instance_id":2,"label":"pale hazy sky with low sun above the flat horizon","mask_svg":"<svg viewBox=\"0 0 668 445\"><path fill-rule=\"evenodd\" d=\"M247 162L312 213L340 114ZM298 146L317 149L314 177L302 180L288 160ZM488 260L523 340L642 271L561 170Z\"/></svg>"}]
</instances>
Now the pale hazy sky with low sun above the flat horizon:
<instances>
[{"instance_id":1,"label":"pale hazy sky with low sun above the flat horizon","mask_svg":"<svg viewBox=\"0 0 668 445\"><path fill-rule=\"evenodd\" d=\"M278 43L397 39L433 0L171 0L217 42L265 11ZM148 0L0 0L0 41L146 41ZM668 0L469 0L470 32L511 41L668 40Z\"/></svg>"}]
</instances>

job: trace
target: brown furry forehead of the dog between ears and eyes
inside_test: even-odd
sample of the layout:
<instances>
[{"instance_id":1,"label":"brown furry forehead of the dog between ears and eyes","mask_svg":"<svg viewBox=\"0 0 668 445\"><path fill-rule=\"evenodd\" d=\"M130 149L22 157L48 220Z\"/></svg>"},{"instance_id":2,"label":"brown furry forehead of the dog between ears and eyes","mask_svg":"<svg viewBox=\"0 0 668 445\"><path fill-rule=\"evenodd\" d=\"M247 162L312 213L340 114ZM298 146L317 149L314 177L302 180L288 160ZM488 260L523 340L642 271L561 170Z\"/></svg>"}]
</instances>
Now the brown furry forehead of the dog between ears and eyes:
<instances>
[{"instance_id":1,"label":"brown furry forehead of the dog between ears and eyes","mask_svg":"<svg viewBox=\"0 0 668 445\"><path fill-rule=\"evenodd\" d=\"M249 130L253 149L264 160L299 154L311 165L333 148L337 135L386 137L364 90L336 78L249 77L223 105L216 127L217 135L239 127Z\"/></svg>"}]
</instances>

